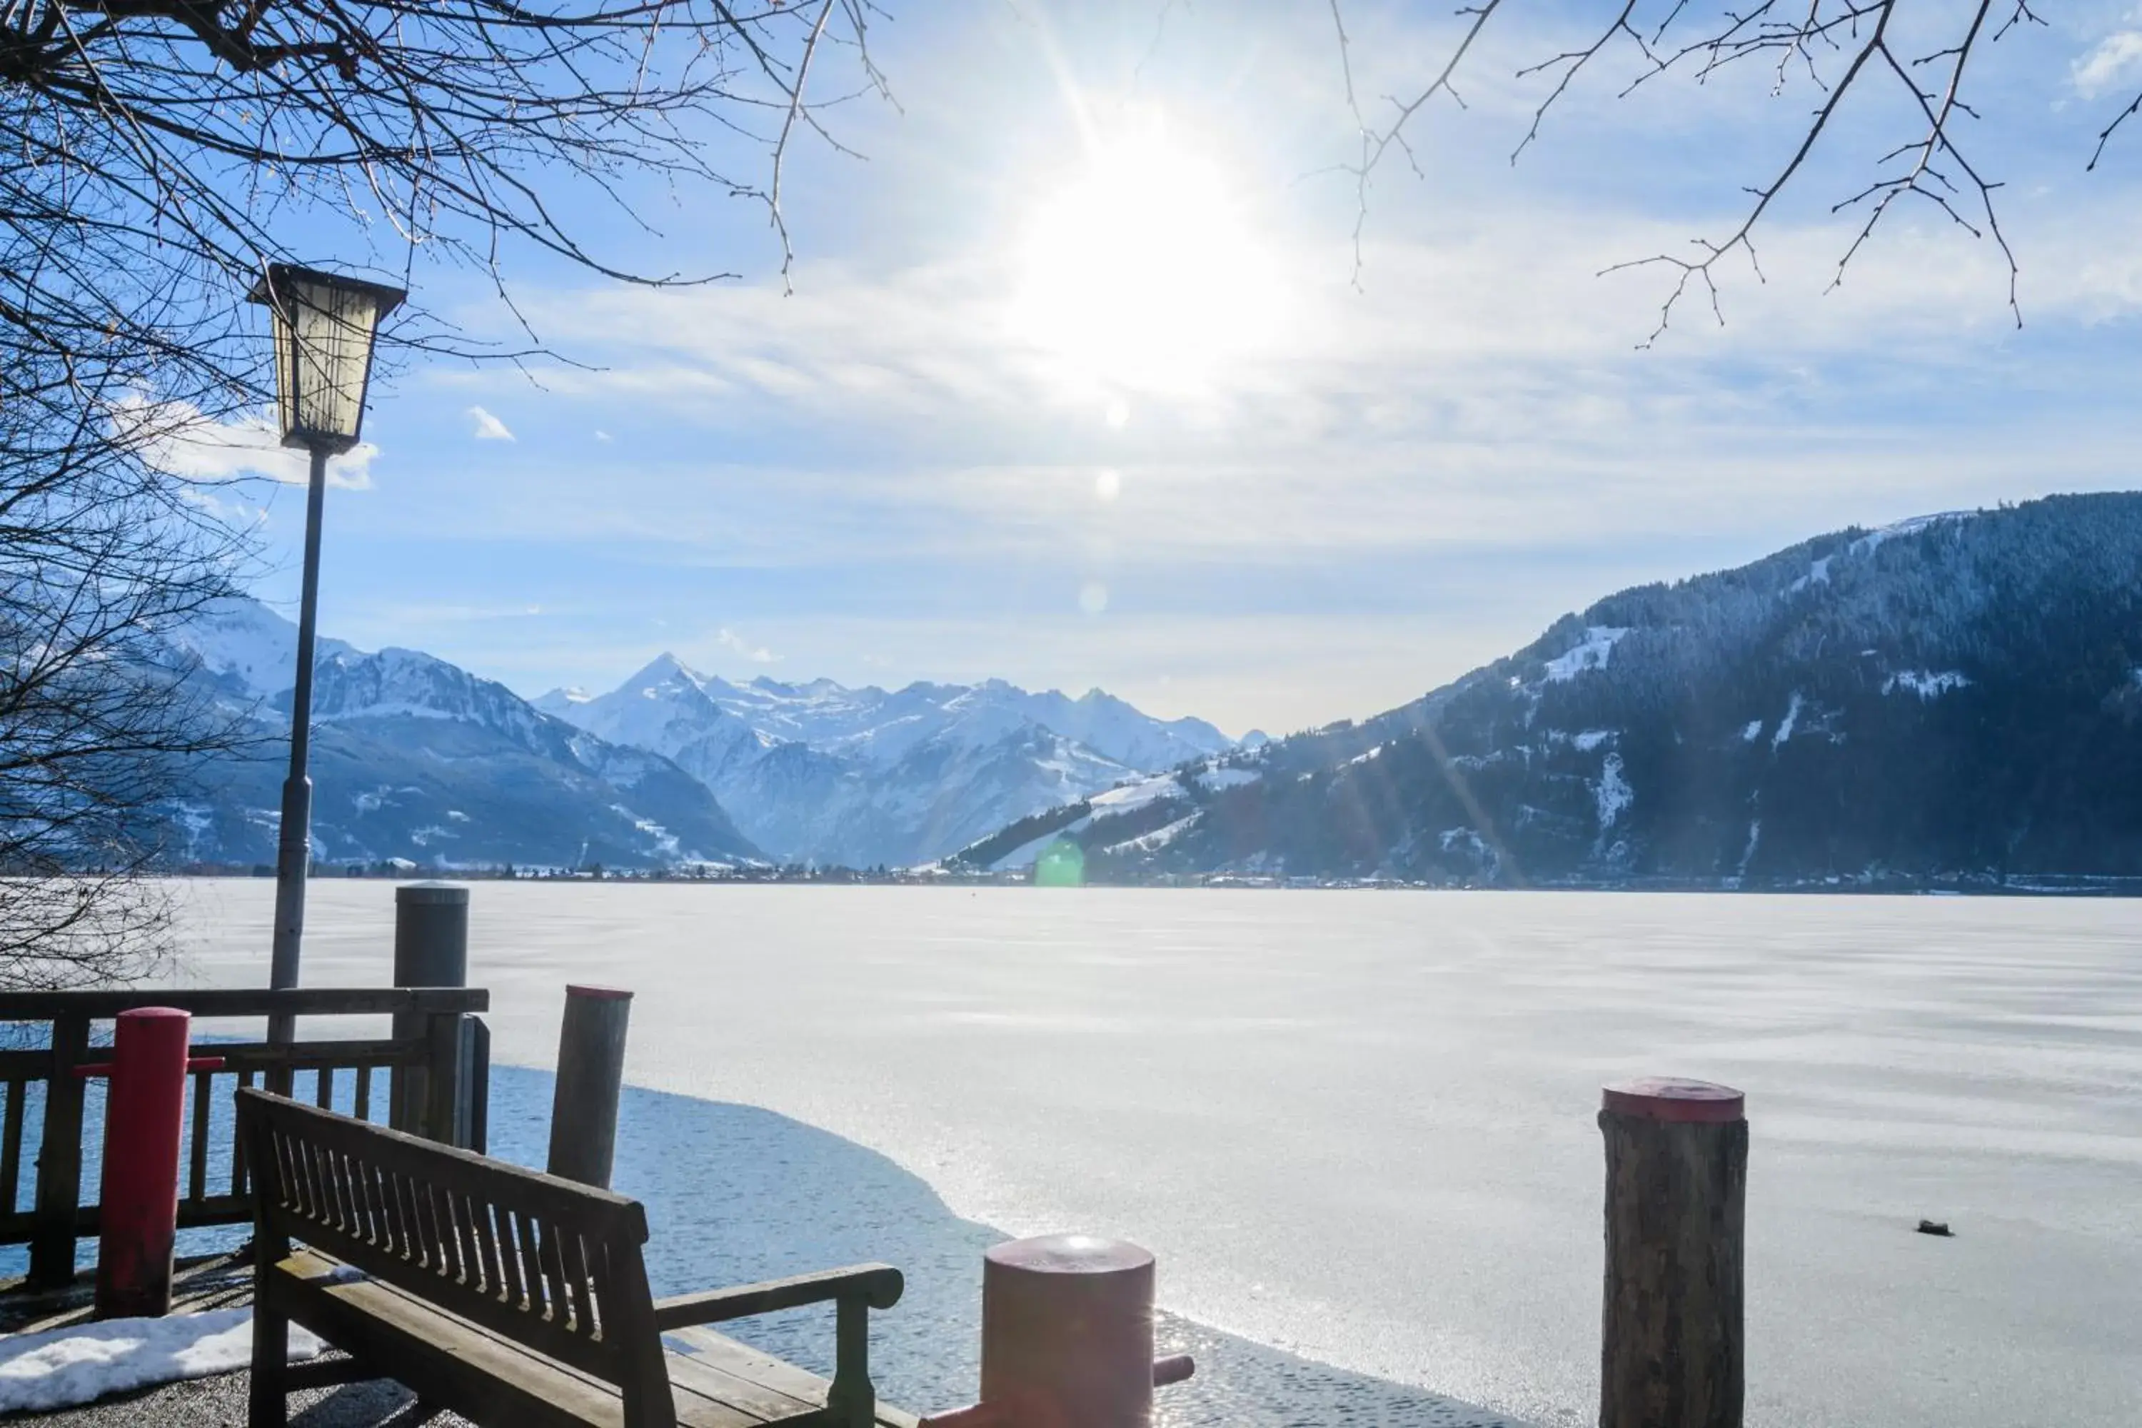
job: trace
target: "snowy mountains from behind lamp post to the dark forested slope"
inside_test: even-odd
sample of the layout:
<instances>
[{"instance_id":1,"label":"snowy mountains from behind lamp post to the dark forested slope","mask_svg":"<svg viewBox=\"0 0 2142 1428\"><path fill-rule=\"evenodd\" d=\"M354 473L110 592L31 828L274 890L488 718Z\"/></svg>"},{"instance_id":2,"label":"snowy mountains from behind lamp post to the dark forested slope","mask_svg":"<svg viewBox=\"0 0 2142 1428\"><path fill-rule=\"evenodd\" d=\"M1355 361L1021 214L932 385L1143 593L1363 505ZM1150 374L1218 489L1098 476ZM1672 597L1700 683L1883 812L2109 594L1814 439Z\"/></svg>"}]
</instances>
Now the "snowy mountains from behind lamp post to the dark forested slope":
<instances>
[{"instance_id":1,"label":"snowy mountains from behind lamp post to the dark forested slope","mask_svg":"<svg viewBox=\"0 0 2142 1428\"><path fill-rule=\"evenodd\" d=\"M233 599L171 632L255 739L191 779L182 865L274 859L296 627ZM621 687L523 700L409 649L319 640L313 856L330 865L910 865L1234 743L1099 689L1005 681L730 685L662 655Z\"/></svg>"}]
</instances>

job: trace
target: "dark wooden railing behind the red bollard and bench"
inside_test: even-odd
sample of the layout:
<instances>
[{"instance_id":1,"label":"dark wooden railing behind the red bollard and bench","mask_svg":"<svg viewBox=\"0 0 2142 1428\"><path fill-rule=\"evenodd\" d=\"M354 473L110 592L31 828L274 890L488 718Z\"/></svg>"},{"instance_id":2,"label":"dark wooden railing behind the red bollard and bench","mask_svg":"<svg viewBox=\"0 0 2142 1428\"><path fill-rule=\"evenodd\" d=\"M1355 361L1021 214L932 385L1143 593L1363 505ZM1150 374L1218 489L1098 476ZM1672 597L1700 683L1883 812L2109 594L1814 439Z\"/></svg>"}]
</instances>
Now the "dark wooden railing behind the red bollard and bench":
<instances>
[{"instance_id":1,"label":"dark wooden railing behind the red bollard and bench","mask_svg":"<svg viewBox=\"0 0 2142 1428\"><path fill-rule=\"evenodd\" d=\"M34 1289L71 1282L75 1240L101 1229L99 1210L84 1203L81 1186L84 1145L103 1137L101 1124L86 1124L90 1077L84 1066L105 1060L92 1045L96 1023L137 1006L176 1006L195 1023L270 1015L394 1017L394 1030L383 1038L289 1045L203 1038L195 1026L193 1053L221 1058L223 1066L193 1073L180 1141L180 1229L236 1225L253 1216L236 1139L231 1092L238 1085L259 1083L308 1096L360 1120L377 1120L383 1111L398 1130L469 1150L484 1150L488 1139L491 1036L473 1013L488 1011L491 993L476 987L0 993L0 1023L24 1026L24 1040L43 1043L0 1051L0 1090L6 1096L0 1111L0 1244L28 1242L28 1282ZM386 1073L386 1085L379 1073ZM21 1148L32 1109L41 1120L36 1186L24 1210Z\"/></svg>"}]
</instances>

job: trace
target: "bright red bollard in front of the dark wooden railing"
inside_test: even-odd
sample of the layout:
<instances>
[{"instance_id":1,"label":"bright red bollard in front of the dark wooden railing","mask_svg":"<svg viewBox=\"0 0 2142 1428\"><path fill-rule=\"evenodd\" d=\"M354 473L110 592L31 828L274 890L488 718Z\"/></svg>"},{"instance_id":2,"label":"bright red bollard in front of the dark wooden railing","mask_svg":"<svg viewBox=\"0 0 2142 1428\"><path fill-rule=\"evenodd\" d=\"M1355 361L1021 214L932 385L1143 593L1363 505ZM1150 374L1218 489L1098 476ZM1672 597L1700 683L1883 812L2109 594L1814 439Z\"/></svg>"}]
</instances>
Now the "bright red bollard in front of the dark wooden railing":
<instances>
[{"instance_id":1,"label":"bright red bollard in front of the dark wooden railing","mask_svg":"<svg viewBox=\"0 0 2142 1428\"><path fill-rule=\"evenodd\" d=\"M105 1103L103 1237L96 1244L99 1319L171 1312L178 1141L186 1111L191 1030L193 1017L169 1006L141 1006L118 1015L109 1064L111 1094ZM81 1070L96 1075L105 1068Z\"/></svg>"}]
</instances>

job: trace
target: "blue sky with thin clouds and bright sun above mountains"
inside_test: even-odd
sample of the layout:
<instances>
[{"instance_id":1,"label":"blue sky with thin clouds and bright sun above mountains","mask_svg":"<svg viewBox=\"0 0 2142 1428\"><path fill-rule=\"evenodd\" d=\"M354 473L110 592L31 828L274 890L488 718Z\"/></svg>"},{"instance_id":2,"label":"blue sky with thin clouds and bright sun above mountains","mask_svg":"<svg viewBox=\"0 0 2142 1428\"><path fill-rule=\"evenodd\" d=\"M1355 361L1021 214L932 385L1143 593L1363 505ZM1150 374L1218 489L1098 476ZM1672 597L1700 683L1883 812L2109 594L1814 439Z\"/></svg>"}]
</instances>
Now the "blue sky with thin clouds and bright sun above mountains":
<instances>
[{"instance_id":1,"label":"blue sky with thin clouds and bright sun above mountains","mask_svg":"<svg viewBox=\"0 0 2142 1428\"><path fill-rule=\"evenodd\" d=\"M1448 54L1457 19L1420 11L1345 6L1371 113ZM1375 176L1356 280L1322 0L893 6L897 109L833 118L868 158L790 158L790 293L763 210L651 193L660 233L593 231L743 276L643 291L510 255L585 366L375 392L321 627L525 694L670 649L728 677L1101 685L1279 732L1639 580L2138 484L2142 131L2084 161L2142 86L2142 11L2063 6L1983 60L1975 158L2007 184L2022 330L1998 253L1926 208L1825 291L1851 240L1829 206L1902 137L1870 94L1761 231L1765 280L1724 265L1724 328L1690 304L1647 351L1666 278L1598 272L1729 231L1812 90L1750 71L1617 98L1621 56L1512 167L1544 92L1512 73L1577 15L1510 11L1467 107L1422 111L1422 171ZM416 283L510 334L478 274ZM302 499L263 490L287 602Z\"/></svg>"}]
</instances>

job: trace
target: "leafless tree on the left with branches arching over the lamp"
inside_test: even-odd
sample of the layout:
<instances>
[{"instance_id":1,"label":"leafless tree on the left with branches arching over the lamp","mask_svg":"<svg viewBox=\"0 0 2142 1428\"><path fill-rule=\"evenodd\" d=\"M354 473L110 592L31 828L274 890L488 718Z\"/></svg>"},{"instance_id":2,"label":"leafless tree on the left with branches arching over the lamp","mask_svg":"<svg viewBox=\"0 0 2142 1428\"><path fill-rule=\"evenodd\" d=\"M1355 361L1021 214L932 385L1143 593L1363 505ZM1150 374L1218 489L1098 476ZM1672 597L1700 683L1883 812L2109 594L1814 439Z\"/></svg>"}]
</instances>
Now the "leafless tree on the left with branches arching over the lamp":
<instances>
[{"instance_id":1,"label":"leafless tree on the left with branches arching over the lamp","mask_svg":"<svg viewBox=\"0 0 2142 1428\"><path fill-rule=\"evenodd\" d=\"M508 304L527 255L703 283L595 242L692 184L760 203L786 274L784 167L831 141L825 105L883 90L872 15L0 0L0 985L124 976L161 946L156 814L231 739L163 634L231 591L246 537L159 458L268 400L263 268L330 242L471 265ZM514 355L422 302L386 336L388 362L409 349Z\"/></svg>"}]
</instances>

